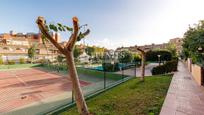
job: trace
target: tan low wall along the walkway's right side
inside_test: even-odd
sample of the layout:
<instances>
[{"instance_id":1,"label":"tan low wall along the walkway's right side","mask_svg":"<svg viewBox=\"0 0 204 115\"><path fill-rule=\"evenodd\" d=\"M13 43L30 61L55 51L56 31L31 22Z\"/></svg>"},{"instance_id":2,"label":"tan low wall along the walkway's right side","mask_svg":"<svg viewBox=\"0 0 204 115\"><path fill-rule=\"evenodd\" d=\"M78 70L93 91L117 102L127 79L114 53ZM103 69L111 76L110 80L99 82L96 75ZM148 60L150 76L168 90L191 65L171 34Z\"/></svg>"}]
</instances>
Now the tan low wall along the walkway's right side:
<instances>
[{"instance_id":1,"label":"tan low wall along the walkway's right side","mask_svg":"<svg viewBox=\"0 0 204 115\"><path fill-rule=\"evenodd\" d=\"M195 81L199 84L202 85L202 67L198 66L196 64L191 65L191 73L193 75L193 78Z\"/></svg>"}]
</instances>

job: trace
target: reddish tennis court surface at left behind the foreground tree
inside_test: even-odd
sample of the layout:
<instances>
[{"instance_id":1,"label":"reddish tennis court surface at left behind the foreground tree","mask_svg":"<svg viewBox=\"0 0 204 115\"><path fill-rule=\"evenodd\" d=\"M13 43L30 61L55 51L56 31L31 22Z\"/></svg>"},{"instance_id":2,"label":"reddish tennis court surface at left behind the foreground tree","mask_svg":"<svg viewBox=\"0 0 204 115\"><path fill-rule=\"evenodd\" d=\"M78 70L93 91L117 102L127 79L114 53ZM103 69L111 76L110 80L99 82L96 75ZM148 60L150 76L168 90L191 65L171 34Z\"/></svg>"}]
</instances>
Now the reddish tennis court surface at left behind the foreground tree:
<instances>
[{"instance_id":1,"label":"reddish tennis court surface at left behind the foreground tree","mask_svg":"<svg viewBox=\"0 0 204 115\"><path fill-rule=\"evenodd\" d=\"M70 79L54 73L39 69L0 71L0 113L71 90Z\"/></svg>"}]
</instances>

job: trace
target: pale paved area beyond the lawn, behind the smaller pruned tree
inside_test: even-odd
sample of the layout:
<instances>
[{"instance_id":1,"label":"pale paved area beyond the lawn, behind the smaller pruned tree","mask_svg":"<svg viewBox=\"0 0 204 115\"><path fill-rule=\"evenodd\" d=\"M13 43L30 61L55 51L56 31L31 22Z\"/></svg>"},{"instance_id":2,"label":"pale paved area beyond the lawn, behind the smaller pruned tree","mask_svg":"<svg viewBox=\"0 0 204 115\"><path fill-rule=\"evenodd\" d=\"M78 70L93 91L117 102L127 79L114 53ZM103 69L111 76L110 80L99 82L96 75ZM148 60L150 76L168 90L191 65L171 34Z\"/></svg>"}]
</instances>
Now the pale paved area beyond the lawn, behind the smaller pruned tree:
<instances>
[{"instance_id":1,"label":"pale paved area beyond the lawn, behind the smaller pruned tree","mask_svg":"<svg viewBox=\"0 0 204 115\"><path fill-rule=\"evenodd\" d=\"M145 66L145 76L151 76L152 75L152 68L155 66L158 66L158 63L150 63ZM141 76L141 68L136 69L136 76L140 77ZM115 72L116 74L122 74L122 71ZM135 68L131 69L126 69L124 70L124 75L129 75L129 76L135 76Z\"/></svg>"}]
</instances>

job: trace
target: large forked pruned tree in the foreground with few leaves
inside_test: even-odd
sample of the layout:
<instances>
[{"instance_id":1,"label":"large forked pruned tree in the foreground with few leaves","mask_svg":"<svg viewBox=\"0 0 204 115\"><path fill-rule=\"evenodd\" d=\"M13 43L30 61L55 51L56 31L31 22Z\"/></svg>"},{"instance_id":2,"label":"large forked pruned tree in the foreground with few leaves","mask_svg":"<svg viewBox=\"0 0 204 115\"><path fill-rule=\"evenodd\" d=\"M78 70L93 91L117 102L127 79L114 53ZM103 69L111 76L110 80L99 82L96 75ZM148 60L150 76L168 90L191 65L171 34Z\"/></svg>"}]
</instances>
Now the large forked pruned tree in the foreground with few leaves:
<instances>
[{"instance_id":1,"label":"large forked pruned tree in the foreground with few leaves","mask_svg":"<svg viewBox=\"0 0 204 115\"><path fill-rule=\"evenodd\" d=\"M80 32L80 26L79 26L79 21L77 17L72 18L73 21L73 28L70 28L68 26L64 26L60 23L56 25L50 24L49 26L46 25L46 21L43 17L38 17L36 23L42 32L43 35L62 53L65 55L66 62L68 65L68 71L69 71L69 76L72 81L72 86L73 86L73 92L76 100L76 105L78 108L78 112L81 115L88 115L88 107L86 105L80 83L79 83L79 78L78 74L76 71L75 63L74 63L74 56L73 56L73 50L75 43L77 41L80 41L82 38L84 38L86 35L90 33L90 30L87 29L85 32ZM59 31L70 31L71 36L66 43L65 46L60 45L49 33L49 29L57 32Z\"/></svg>"}]
</instances>

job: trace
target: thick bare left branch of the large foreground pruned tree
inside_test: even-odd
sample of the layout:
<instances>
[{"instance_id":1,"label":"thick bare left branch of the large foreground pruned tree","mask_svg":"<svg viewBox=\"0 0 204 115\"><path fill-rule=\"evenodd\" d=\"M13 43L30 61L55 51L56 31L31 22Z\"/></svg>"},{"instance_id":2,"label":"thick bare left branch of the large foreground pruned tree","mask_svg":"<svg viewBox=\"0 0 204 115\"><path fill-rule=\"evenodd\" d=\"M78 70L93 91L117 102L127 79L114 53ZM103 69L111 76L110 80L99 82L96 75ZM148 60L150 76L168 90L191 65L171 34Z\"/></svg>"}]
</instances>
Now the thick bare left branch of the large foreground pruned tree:
<instances>
[{"instance_id":1,"label":"thick bare left branch of the large foreground pruned tree","mask_svg":"<svg viewBox=\"0 0 204 115\"><path fill-rule=\"evenodd\" d=\"M55 39L49 34L47 28L45 27L45 19L41 16L38 17L36 23L38 24L38 27L40 29L40 31L43 33L43 35L45 35L50 42L52 42L52 44L63 54L66 54L64 48L62 48L61 45L59 45L57 43L57 41L55 41Z\"/></svg>"}]
</instances>

